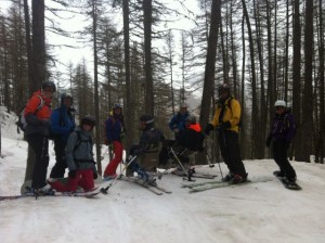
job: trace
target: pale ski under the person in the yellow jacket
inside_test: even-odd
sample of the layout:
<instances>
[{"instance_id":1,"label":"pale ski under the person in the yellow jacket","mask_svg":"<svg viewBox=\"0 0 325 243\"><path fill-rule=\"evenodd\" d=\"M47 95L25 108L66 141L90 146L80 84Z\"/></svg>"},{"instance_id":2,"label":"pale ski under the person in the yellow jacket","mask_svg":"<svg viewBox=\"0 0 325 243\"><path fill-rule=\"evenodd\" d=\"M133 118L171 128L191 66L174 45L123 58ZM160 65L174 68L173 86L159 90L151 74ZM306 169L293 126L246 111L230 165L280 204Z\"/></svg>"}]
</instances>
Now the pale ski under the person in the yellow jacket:
<instances>
[{"instance_id":1,"label":"pale ski under the person in the yellow jacket","mask_svg":"<svg viewBox=\"0 0 325 243\"><path fill-rule=\"evenodd\" d=\"M252 180L247 180L245 182L242 183L230 183L230 182L225 182L225 181L214 181L212 183L205 183L205 184L200 184L200 186L192 186L192 187L187 187L190 189L190 192L202 192L202 191L207 191L207 190L211 190L211 189L217 189L217 188L235 188L237 186L245 186L245 184L250 184L250 183L259 183L259 182L268 182L268 181L272 181L271 178L259 178L259 179L252 179Z\"/></svg>"}]
</instances>

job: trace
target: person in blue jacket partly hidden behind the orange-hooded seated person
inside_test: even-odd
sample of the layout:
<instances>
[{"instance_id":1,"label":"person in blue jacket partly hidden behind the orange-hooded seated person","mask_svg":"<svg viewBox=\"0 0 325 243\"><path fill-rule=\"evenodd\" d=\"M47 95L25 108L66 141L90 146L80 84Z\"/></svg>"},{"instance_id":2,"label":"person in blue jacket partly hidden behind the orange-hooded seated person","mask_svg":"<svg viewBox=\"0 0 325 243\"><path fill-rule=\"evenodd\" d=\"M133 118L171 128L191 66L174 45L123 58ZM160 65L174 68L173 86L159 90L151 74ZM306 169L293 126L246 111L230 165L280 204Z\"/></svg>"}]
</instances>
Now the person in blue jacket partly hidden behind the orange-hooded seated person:
<instances>
[{"instance_id":1,"label":"person in blue jacket partly hidden behind the orange-hooded seated person","mask_svg":"<svg viewBox=\"0 0 325 243\"><path fill-rule=\"evenodd\" d=\"M186 118L190 116L186 104L181 104L180 111L170 119L168 126L174 132L174 139L179 140L186 129Z\"/></svg>"}]
</instances>

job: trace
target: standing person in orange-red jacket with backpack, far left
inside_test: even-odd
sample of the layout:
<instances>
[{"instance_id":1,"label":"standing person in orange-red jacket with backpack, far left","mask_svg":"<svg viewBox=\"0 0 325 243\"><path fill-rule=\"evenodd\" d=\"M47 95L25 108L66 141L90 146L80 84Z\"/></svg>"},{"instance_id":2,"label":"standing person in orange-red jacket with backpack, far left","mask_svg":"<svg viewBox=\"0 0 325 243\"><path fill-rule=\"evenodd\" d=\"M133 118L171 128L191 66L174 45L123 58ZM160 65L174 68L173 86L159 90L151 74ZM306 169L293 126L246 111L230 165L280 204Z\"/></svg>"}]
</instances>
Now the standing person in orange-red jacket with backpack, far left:
<instances>
[{"instance_id":1,"label":"standing person in orange-red jacket with backpack, far left","mask_svg":"<svg viewBox=\"0 0 325 243\"><path fill-rule=\"evenodd\" d=\"M53 81L44 81L42 88L32 94L24 112L27 122L25 136L36 155L31 177L31 190L35 194L43 194L47 186L51 103L55 91Z\"/></svg>"}]
</instances>

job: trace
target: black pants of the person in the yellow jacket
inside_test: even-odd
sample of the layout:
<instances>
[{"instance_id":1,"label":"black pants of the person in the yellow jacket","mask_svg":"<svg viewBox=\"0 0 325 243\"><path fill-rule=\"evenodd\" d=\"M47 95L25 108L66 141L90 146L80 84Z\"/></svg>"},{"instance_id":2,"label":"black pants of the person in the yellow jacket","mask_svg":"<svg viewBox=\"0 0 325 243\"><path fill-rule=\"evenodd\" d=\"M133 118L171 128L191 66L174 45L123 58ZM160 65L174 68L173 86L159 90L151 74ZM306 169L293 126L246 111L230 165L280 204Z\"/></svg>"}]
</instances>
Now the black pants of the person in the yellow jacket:
<instances>
[{"instance_id":1,"label":"black pants of the person in the yellow jacket","mask_svg":"<svg viewBox=\"0 0 325 243\"><path fill-rule=\"evenodd\" d=\"M231 130L219 130L221 156L231 174L246 176L246 169L240 156L238 133Z\"/></svg>"}]
</instances>

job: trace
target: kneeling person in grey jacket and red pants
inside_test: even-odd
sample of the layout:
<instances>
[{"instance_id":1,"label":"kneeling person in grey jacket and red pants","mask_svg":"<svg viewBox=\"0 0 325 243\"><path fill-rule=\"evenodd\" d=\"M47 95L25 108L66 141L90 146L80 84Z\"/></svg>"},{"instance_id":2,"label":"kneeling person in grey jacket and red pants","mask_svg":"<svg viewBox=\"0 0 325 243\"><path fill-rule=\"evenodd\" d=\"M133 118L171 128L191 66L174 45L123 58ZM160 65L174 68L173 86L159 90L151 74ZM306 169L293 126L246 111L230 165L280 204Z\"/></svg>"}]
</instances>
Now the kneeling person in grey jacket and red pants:
<instances>
[{"instance_id":1,"label":"kneeling person in grey jacket and red pants","mask_svg":"<svg viewBox=\"0 0 325 243\"><path fill-rule=\"evenodd\" d=\"M57 192L73 192L78 187L84 191L94 188L94 179L98 178L98 170L93 159L91 130L95 125L92 116L84 116L80 126L70 133L65 156L69 169L67 183L54 178L48 179L48 183Z\"/></svg>"}]
</instances>

